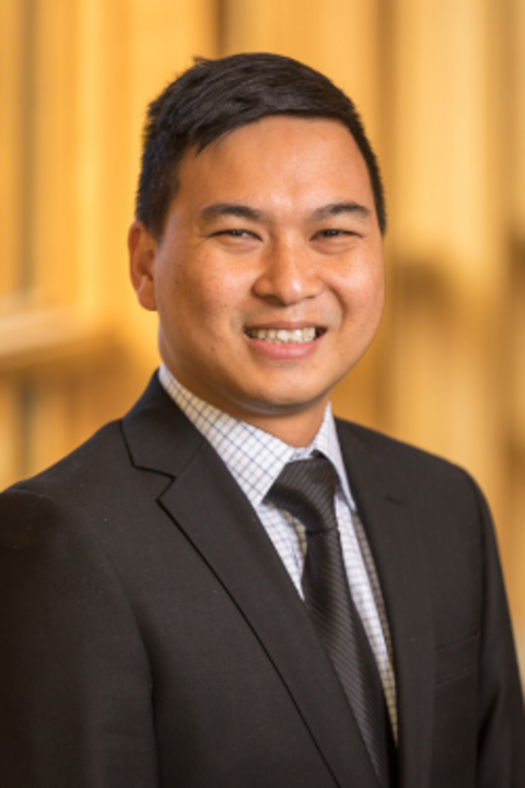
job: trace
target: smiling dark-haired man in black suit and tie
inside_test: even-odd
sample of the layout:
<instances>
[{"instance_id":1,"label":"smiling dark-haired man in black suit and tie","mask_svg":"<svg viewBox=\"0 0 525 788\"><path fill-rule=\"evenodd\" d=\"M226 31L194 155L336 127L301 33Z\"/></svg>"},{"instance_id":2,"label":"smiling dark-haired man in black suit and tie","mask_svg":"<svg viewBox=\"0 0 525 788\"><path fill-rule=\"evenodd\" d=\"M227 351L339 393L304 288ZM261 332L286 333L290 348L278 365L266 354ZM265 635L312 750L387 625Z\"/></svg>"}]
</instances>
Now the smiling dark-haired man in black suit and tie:
<instances>
[{"instance_id":1,"label":"smiling dark-haired man in black suit and tie","mask_svg":"<svg viewBox=\"0 0 525 788\"><path fill-rule=\"evenodd\" d=\"M129 250L163 364L0 499L2 785L525 785L479 490L329 409L384 229L355 109L305 66L199 61L151 105Z\"/></svg>"}]
</instances>

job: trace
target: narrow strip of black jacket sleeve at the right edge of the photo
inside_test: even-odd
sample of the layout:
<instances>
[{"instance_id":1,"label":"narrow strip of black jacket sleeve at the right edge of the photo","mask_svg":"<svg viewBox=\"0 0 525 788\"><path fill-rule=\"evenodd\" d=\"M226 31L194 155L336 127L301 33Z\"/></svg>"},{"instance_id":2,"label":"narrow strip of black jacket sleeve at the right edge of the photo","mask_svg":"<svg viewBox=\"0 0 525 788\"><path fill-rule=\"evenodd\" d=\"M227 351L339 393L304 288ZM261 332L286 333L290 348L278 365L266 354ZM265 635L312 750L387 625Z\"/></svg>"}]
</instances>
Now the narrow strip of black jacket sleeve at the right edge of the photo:
<instances>
[{"instance_id":1,"label":"narrow strip of black jacket sleeve at the right edge of the photo","mask_svg":"<svg viewBox=\"0 0 525 788\"><path fill-rule=\"evenodd\" d=\"M525 721L511 621L493 526L476 488L485 540L479 664L479 788L525 788Z\"/></svg>"}]
</instances>

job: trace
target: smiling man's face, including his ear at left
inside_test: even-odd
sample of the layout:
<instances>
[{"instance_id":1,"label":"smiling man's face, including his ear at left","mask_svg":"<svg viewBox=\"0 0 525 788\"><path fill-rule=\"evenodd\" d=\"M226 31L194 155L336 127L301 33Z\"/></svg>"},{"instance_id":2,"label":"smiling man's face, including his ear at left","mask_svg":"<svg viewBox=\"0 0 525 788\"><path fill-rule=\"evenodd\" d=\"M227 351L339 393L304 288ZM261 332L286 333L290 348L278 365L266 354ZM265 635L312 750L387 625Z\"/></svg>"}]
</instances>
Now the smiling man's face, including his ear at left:
<instances>
[{"instance_id":1,"label":"smiling man's face, including his ear at left","mask_svg":"<svg viewBox=\"0 0 525 788\"><path fill-rule=\"evenodd\" d=\"M184 157L162 241L135 224L139 300L190 391L276 434L315 431L383 311L364 161L334 121L269 117ZM293 442L293 441L290 441Z\"/></svg>"}]
</instances>

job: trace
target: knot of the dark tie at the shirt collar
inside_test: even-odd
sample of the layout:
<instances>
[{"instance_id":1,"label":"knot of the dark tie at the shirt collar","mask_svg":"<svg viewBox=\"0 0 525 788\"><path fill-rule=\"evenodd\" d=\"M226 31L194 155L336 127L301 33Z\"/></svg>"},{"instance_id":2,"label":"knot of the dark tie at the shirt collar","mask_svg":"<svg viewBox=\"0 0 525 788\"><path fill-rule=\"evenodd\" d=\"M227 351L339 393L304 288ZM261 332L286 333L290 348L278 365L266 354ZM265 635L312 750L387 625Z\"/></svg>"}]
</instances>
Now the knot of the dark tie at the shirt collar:
<instances>
[{"instance_id":1,"label":"knot of the dark tie at the shirt collar","mask_svg":"<svg viewBox=\"0 0 525 788\"><path fill-rule=\"evenodd\" d=\"M284 465L266 497L301 520L308 533L314 533L337 529L335 491L336 472L331 462L316 456Z\"/></svg>"}]
</instances>

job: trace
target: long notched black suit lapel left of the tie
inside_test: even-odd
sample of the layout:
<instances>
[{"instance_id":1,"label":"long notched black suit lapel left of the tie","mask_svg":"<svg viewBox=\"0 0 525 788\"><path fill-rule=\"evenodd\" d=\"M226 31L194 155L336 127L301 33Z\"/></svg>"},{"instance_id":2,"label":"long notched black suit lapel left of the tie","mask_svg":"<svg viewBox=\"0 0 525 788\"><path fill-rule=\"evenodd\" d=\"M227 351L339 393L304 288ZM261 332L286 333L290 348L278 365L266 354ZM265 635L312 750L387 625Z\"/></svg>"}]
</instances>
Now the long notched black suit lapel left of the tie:
<instances>
[{"instance_id":1,"label":"long notched black suit lapel left of the tie","mask_svg":"<svg viewBox=\"0 0 525 788\"><path fill-rule=\"evenodd\" d=\"M336 785L376 788L355 720L304 604L222 461L156 379L124 429L137 466L174 478L160 505L253 629Z\"/></svg>"}]
</instances>

